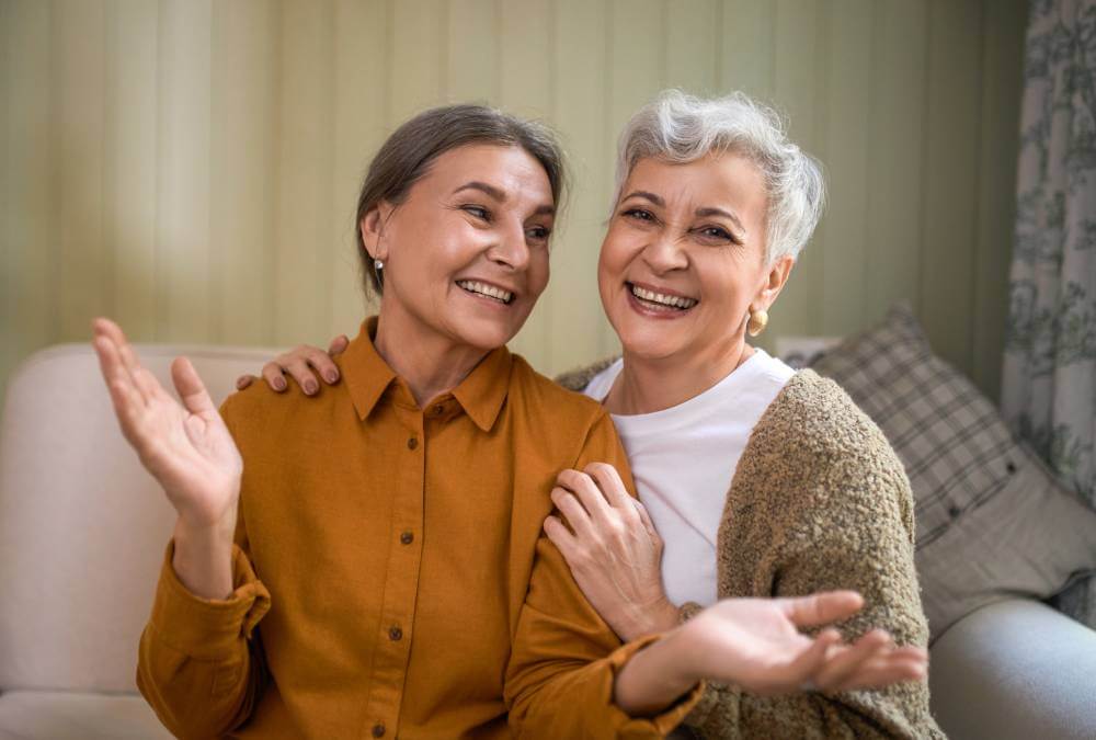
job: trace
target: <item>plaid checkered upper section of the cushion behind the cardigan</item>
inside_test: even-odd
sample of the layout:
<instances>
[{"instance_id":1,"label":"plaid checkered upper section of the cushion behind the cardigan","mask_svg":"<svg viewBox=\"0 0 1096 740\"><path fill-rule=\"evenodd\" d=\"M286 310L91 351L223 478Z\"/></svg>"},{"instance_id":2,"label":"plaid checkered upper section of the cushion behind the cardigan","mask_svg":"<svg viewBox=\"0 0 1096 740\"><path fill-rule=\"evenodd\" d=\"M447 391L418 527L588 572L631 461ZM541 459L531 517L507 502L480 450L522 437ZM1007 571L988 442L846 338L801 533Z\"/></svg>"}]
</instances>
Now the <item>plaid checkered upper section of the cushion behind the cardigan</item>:
<instances>
[{"instance_id":1,"label":"plaid checkered upper section of the cushion behind the cardigan","mask_svg":"<svg viewBox=\"0 0 1096 740\"><path fill-rule=\"evenodd\" d=\"M933 354L907 308L814 362L879 424L916 499L918 548L1001 491L1024 453L997 410Z\"/></svg>"}]
</instances>

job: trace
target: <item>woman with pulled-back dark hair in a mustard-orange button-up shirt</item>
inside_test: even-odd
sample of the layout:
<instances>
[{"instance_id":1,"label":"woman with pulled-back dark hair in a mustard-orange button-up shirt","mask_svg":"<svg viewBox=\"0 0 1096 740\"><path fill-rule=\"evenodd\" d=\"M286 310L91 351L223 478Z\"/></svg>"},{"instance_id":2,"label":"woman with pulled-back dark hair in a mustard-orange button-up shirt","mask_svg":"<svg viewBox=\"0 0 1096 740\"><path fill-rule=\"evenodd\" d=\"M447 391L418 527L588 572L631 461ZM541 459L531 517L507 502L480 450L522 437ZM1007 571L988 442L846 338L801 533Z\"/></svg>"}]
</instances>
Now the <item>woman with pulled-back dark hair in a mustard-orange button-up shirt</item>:
<instances>
[{"instance_id":1,"label":"woman with pulled-back dark hair in a mustard-orange button-up shirt","mask_svg":"<svg viewBox=\"0 0 1096 740\"><path fill-rule=\"evenodd\" d=\"M173 732L660 737L704 679L923 670L879 635L799 634L855 613L847 592L726 601L624 646L583 599L543 535L549 493L595 460L625 491L627 463L598 403L505 349L548 281L562 171L546 129L486 107L392 134L358 204L379 316L315 400L255 388L218 414L180 358L180 406L96 321L123 432L179 513L138 663ZM648 670L621 695L633 657Z\"/></svg>"}]
</instances>

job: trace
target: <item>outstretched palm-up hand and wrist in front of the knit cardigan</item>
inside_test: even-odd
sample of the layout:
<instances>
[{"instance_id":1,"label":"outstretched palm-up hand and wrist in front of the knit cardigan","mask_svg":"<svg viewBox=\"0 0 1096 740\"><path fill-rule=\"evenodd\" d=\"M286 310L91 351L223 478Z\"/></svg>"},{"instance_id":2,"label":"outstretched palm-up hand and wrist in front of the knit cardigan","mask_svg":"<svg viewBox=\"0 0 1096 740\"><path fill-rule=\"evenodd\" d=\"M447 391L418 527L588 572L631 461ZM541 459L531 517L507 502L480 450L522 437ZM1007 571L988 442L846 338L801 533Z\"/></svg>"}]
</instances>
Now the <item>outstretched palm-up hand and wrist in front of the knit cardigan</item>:
<instances>
[{"instance_id":1,"label":"outstretched palm-up hand and wrist in front of the knit cardigan","mask_svg":"<svg viewBox=\"0 0 1096 740\"><path fill-rule=\"evenodd\" d=\"M706 608L621 670L616 699L626 710L658 710L700 680L757 694L875 688L924 678L927 653L895 647L871 630L843 645L836 629L811 638L800 630L841 622L864 605L859 594L832 591L796 599L728 599Z\"/></svg>"}]
</instances>

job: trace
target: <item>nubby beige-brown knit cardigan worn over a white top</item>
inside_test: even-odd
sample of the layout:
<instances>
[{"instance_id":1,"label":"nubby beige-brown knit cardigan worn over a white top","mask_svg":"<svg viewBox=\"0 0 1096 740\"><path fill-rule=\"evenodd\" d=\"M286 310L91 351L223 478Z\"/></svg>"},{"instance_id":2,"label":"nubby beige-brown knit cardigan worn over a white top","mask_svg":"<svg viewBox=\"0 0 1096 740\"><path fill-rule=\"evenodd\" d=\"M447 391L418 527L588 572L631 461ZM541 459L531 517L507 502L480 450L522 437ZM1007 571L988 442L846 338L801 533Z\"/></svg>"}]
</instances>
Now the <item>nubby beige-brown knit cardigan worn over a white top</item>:
<instances>
[{"instance_id":1,"label":"nubby beige-brown knit cardigan worn over a white top","mask_svg":"<svg viewBox=\"0 0 1096 740\"><path fill-rule=\"evenodd\" d=\"M557 380L585 388L610 362ZM913 496L879 428L834 382L801 371L765 410L719 525L720 599L855 589L865 608L838 625L899 645L928 642L913 563ZM685 604L682 618L700 607ZM710 684L685 720L704 738L943 738L921 681L880 691L765 697Z\"/></svg>"}]
</instances>

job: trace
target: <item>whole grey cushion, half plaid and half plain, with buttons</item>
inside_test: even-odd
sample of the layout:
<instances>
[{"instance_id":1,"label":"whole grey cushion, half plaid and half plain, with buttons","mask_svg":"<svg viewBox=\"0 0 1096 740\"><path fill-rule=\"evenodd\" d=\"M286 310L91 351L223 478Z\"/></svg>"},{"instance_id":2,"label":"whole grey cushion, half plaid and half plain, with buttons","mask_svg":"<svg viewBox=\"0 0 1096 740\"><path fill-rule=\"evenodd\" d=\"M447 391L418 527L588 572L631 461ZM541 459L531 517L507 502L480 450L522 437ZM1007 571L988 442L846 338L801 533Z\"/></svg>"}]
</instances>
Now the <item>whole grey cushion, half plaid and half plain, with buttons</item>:
<instances>
[{"instance_id":1,"label":"whole grey cushion, half plaid and half plain, with buttons","mask_svg":"<svg viewBox=\"0 0 1096 740\"><path fill-rule=\"evenodd\" d=\"M891 309L813 368L845 388L905 464L933 639L1002 599L1096 589L1096 512L1059 486L974 385L932 353L909 309Z\"/></svg>"}]
</instances>

